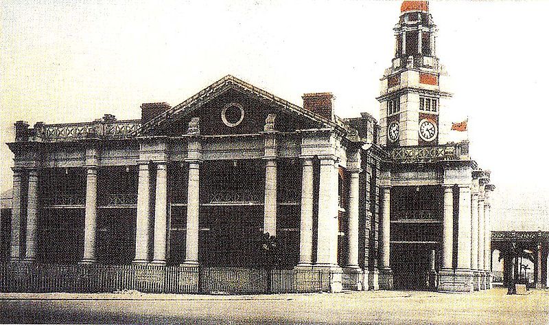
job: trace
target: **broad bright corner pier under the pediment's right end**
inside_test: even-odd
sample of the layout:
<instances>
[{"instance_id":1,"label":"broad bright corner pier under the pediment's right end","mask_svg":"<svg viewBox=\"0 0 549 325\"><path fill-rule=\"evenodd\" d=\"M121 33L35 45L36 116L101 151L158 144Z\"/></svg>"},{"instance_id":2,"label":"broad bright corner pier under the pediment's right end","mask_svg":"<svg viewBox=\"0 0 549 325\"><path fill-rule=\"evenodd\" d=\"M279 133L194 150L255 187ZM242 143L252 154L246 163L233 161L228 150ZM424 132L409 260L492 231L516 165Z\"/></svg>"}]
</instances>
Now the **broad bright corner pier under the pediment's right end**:
<instances>
[{"instance_id":1,"label":"broad bright corner pier under the pediment's right end","mask_svg":"<svg viewBox=\"0 0 549 325\"><path fill-rule=\"evenodd\" d=\"M316 265L335 266L331 257L331 240L334 236L334 208L333 193L334 185L334 157L323 157L320 159L320 183L318 186L318 240L316 248Z\"/></svg>"}]
</instances>

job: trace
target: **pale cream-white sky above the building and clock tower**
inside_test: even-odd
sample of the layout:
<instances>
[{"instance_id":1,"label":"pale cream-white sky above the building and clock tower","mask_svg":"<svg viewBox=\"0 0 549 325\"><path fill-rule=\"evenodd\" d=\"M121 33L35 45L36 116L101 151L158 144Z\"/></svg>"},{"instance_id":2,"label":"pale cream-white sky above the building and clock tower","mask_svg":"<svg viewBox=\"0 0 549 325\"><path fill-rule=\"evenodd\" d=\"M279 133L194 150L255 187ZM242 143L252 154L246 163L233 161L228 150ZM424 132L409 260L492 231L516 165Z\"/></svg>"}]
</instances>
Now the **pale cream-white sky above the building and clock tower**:
<instances>
[{"instance_id":1,"label":"pale cream-white sky above the building and clock tower","mask_svg":"<svg viewBox=\"0 0 549 325\"><path fill-rule=\"evenodd\" d=\"M1 142L16 120L139 118L141 103L173 106L226 74L300 106L331 91L341 117L378 117L400 3L3 1ZM469 117L471 156L497 187L493 227L549 230L549 1L430 1L430 12L452 117ZM3 192L13 161L0 154Z\"/></svg>"}]
</instances>

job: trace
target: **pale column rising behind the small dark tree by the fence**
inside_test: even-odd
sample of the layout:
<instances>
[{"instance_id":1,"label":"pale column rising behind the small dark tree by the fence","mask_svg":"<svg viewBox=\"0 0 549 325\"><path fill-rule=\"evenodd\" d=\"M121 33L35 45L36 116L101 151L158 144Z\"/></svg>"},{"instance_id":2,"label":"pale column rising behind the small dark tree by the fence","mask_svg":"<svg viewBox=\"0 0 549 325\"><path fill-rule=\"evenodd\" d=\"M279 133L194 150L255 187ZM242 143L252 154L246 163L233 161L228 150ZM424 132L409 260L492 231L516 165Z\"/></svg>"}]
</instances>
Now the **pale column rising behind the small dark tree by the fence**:
<instances>
[{"instance_id":1,"label":"pale column rising behind the small dark tree by the fence","mask_svg":"<svg viewBox=\"0 0 549 325\"><path fill-rule=\"evenodd\" d=\"M263 231L277 236L277 160L265 161L265 214Z\"/></svg>"}]
</instances>

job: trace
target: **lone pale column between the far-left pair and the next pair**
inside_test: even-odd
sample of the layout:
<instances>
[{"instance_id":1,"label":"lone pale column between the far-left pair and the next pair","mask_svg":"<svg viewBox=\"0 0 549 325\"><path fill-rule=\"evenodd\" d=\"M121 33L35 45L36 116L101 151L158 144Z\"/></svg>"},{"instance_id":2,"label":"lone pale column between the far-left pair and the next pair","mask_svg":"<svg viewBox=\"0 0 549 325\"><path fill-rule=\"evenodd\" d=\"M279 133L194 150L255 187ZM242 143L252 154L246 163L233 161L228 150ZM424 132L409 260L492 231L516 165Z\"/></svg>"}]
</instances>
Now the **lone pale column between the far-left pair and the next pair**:
<instances>
[{"instance_id":1,"label":"lone pale column between the far-left pair and the next pair","mask_svg":"<svg viewBox=\"0 0 549 325\"><path fill-rule=\"evenodd\" d=\"M97 232L97 166L86 168L86 212L84 216L83 263L97 262L95 256Z\"/></svg>"}]
</instances>

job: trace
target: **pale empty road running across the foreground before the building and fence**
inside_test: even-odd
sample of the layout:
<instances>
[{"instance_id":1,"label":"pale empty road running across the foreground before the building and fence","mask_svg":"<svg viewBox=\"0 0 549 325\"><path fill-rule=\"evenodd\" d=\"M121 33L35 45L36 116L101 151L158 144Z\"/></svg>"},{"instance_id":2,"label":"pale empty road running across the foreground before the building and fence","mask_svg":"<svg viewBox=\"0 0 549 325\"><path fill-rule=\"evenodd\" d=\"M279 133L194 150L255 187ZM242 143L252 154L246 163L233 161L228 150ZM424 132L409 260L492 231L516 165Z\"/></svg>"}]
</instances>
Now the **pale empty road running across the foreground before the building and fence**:
<instances>
[{"instance_id":1,"label":"pale empty road running across the foreground before the building and fence","mask_svg":"<svg viewBox=\"0 0 549 325\"><path fill-rule=\"evenodd\" d=\"M0 294L0 322L549 324L549 290L505 295L375 291L306 295Z\"/></svg>"}]
</instances>

